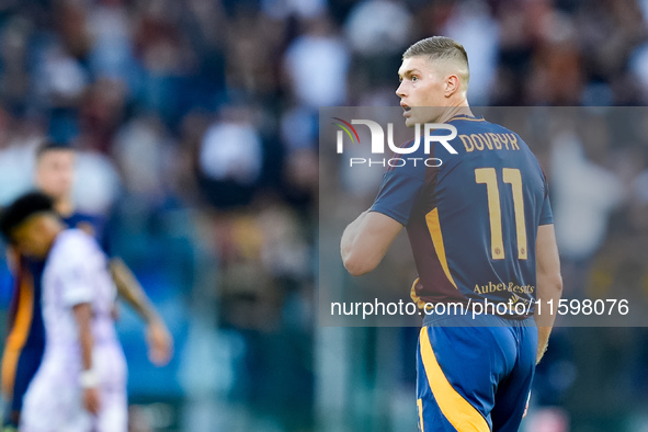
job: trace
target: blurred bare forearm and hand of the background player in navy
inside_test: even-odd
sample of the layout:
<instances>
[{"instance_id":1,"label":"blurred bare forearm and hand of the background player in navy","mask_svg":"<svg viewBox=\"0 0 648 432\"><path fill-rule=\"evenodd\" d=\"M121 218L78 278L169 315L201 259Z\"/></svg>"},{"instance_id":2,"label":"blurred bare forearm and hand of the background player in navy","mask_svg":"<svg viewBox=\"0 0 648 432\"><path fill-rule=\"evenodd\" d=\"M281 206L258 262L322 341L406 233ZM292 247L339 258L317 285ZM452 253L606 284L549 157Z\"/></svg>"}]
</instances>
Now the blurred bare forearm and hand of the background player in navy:
<instances>
[{"instance_id":1,"label":"blurred bare forearm and hand of the background player in navy","mask_svg":"<svg viewBox=\"0 0 648 432\"><path fill-rule=\"evenodd\" d=\"M122 259L111 259L110 270L120 296L135 309L147 325L146 341L150 361L158 366L169 363L173 351L173 339L144 288Z\"/></svg>"}]
</instances>

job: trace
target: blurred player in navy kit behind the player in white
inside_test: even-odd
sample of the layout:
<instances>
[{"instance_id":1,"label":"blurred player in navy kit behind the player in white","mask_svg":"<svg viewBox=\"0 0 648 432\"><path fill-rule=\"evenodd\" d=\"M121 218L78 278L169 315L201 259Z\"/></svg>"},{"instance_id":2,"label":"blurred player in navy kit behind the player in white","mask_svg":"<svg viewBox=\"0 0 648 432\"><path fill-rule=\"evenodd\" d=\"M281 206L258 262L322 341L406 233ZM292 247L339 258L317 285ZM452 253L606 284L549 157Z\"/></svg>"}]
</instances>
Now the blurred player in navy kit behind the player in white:
<instances>
[{"instance_id":1,"label":"blurred player in navy kit behind the player in white","mask_svg":"<svg viewBox=\"0 0 648 432\"><path fill-rule=\"evenodd\" d=\"M109 270L124 298L147 323L149 359L164 365L172 355L172 338L150 299L130 270L110 253L105 218L76 212L72 201L75 150L64 144L47 141L36 152L34 181L54 200L56 212L69 228L79 228L93 236L111 257ZM14 275L14 292L9 314L9 333L2 355L2 396L8 413L4 430L18 428L23 397L38 370L45 348L45 328L41 309L42 275L45 262L23 257L9 248L8 257Z\"/></svg>"}]
</instances>

